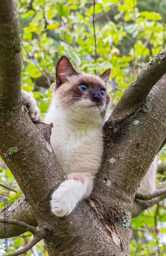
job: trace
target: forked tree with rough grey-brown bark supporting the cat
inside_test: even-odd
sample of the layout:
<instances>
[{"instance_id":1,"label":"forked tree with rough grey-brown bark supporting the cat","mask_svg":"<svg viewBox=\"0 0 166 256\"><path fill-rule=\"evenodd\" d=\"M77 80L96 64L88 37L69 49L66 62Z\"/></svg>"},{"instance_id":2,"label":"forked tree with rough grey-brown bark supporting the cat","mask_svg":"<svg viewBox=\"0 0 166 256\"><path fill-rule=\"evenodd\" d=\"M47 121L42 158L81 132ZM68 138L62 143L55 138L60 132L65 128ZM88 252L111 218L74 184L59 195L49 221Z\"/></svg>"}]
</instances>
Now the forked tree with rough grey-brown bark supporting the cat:
<instances>
[{"instance_id":1,"label":"forked tree with rough grey-brown bark supporting the cat","mask_svg":"<svg viewBox=\"0 0 166 256\"><path fill-rule=\"evenodd\" d=\"M0 152L38 222L39 229L26 226L34 233L33 242L44 238L49 255L129 255L135 193L166 137L166 51L158 53L127 87L113 112L116 129L111 118L105 123L103 163L91 197L82 201L71 215L57 218L50 212L50 195L66 176L50 147L51 124L33 124L22 105L16 3L1 0L0 4ZM155 199L148 198L146 203L134 203L137 214L165 198L165 189L153 196ZM19 207L17 218L21 217ZM26 223L36 225L35 218ZM12 236L11 226L8 231ZM21 232L17 229L17 234Z\"/></svg>"}]
</instances>

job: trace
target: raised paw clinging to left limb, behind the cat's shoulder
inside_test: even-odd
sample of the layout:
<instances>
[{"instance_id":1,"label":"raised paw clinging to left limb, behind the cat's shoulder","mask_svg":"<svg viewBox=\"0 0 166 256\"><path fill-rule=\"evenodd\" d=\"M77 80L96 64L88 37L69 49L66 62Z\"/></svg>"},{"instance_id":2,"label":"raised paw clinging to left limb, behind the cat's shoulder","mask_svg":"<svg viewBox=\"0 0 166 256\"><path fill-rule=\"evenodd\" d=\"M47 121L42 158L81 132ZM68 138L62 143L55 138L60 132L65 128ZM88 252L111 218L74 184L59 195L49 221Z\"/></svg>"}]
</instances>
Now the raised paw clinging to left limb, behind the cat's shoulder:
<instances>
[{"instance_id":1,"label":"raised paw clinging to left limb, behind the cat's shoulder","mask_svg":"<svg viewBox=\"0 0 166 256\"><path fill-rule=\"evenodd\" d=\"M24 105L28 110L28 114L33 122L40 120L40 112L39 108L36 104L36 100L26 91L22 90L22 97L24 101Z\"/></svg>"}]
</instances>

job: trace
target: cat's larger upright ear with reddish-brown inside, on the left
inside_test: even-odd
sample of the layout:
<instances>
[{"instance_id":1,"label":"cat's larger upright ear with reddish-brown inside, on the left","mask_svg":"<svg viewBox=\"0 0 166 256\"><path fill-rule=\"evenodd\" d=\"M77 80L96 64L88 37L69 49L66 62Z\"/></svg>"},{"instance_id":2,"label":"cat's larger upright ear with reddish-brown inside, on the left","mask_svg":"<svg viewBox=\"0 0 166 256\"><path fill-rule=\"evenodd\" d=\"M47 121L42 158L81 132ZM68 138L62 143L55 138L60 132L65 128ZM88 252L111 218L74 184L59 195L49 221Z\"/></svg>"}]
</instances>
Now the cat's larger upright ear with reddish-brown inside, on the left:
<instances>
[{"instance_id":1,"label":"cat's larger upright ear with reddish-brown inside, on the left","mask_svg":"<svg viewBox=\"0 0 166 256\"><path fill-rule=\"evenodd\" d=\"M68 80L68 77L73 75L78 75L78 73L74 70L70 60L66 56L61 57L56 69L56 87L60 87Z\"/></svg>"}]
</instances>

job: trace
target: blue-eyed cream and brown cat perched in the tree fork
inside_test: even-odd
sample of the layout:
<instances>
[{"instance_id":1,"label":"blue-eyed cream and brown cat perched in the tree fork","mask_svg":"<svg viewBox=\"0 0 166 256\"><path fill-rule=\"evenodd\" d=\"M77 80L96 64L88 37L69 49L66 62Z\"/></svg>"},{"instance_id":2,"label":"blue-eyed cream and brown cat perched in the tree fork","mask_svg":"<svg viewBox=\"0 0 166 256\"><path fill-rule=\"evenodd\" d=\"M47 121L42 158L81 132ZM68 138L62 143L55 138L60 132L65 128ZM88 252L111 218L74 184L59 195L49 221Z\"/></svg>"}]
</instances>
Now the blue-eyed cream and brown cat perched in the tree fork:
<instances>
[{"instance_id":1,"label":"blue-eyed cream and brown cat perched in the tree fork","mask_svg":"<svg viewBox=\"0 0 166 256\"><path fill-rule=\"evenodd\" d=\"M91 194L103 153L102 126L110 104L106 90L109 74L110 69L100 76L77 73L65 56L58 62L52 103L44 119L53 123L51 146L68 178L52 194L51 210L57 216L70 214L81 199ZM22 95L33 122L41 121L35 99L25 91ZM140 192L149 185L148 174L143 180ZM152 184L147 193L155 190Z\"/></svg>"}]
</instances>

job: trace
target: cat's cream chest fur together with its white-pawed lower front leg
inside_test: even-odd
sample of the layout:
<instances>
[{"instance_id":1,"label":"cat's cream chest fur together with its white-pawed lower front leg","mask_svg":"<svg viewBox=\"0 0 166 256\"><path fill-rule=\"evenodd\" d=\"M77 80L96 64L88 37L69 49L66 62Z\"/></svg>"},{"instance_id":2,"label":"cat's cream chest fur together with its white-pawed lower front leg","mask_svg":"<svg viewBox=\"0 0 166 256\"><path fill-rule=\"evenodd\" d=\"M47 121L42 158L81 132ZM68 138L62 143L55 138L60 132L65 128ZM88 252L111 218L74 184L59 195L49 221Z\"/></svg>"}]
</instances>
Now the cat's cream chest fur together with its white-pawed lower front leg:
<instances>
[{"instance_id":1,"label":"cat's cream chest fur together with its white-pawed lower front leg","mask_svg":"<svg viewBox=\"0 0 166 256\"><path fill-rule=\"evenodd\" d=\"M46 123L53 123L51 145L68 180L54 191L51 207L58 216L68 215L82 198L91 194L93 179L101 164L103 152L101 113L104 106L96 109L94 102L82 100L79 105L68 109L61 106L59 95L53 96Z\"/></svg>"}]
</instances>

